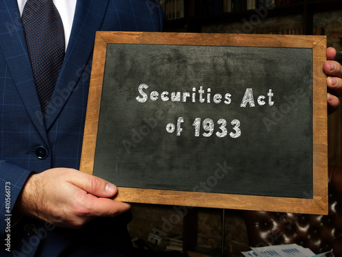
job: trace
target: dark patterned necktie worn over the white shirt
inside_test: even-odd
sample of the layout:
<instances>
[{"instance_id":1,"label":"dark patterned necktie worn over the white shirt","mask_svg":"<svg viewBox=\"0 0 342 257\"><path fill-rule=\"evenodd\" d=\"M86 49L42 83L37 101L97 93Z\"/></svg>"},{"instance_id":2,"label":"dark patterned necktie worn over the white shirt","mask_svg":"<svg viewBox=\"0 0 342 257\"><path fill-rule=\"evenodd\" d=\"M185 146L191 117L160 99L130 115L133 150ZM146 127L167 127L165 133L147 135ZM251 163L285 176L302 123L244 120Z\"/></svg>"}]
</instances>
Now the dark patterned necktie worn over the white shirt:
<instances>
[{"instance_id":1,"label":"dark patterned necktie worn over the white shirt","mask_svg":"<svg viewBox=\"0 0 342 257\"><path fill-rule=\"evenodd\" d=\"M45 113L64 59L64 29L53 0L27 0L21 16L29 60Z\"/></svg>"}]
</instances>

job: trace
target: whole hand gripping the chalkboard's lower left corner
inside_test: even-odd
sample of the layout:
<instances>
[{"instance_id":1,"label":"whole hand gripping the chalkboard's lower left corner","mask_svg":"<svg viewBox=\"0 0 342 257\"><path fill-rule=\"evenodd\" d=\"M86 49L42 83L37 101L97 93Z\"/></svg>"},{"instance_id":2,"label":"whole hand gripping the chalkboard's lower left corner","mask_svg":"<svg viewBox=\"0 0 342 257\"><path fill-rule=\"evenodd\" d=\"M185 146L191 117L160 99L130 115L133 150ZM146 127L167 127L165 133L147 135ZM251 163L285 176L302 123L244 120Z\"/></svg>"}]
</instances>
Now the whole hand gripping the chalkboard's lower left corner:
<instances>
[{"instance_id":1,"label":"whole hand gripping the chalkboard's lower left corner","mask_svg":"<svg viewBox=\"0 0 342 257\"><path fill-rule=\"evenodd\" d=\"M130 204L109 199L113 184L75 169L56 168L27 180L14 212L65 228L81 228L94 217L114 217Z\"/></svg>"}]
</instances>

